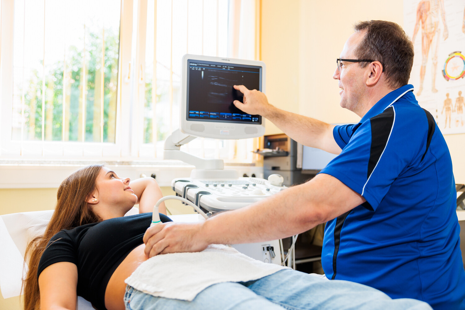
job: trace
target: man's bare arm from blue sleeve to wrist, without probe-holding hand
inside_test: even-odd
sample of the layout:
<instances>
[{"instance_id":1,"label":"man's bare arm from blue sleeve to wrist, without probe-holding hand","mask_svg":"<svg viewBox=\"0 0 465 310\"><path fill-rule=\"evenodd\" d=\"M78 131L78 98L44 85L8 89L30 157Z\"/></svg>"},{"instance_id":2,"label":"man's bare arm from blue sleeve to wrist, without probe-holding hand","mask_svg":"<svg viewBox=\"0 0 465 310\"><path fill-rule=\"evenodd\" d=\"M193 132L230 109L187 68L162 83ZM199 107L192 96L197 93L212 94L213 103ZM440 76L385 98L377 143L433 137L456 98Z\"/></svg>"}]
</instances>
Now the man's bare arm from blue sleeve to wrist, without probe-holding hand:
<instances>
[{"instance_id":1,"label":"man's bare arm from blue sleeve to wrist, without probe-holding hand","mask_svg":"<svg viewBox=\"0 0 465 310\"><path fill-rule=\"evenodd\" d=\"M289 237L336 218L364 201L337 178L319 174L305 184L209 218L199 238L208 244L240 244Z\"/></svg>"}]
</instances>

